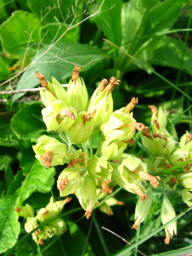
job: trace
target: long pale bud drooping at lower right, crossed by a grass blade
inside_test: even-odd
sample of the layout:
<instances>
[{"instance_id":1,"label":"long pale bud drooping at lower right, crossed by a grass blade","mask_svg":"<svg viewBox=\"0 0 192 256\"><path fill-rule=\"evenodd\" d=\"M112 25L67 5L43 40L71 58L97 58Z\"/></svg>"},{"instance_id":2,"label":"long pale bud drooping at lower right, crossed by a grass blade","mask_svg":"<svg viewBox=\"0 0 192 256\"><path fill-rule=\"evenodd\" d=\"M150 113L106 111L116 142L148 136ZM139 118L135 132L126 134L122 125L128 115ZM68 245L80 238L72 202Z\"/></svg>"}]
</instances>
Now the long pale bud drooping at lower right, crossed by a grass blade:
<instances>
[{"instance_id":1,"label":"long pale bud drooping at lower right, crossed by a grass blade","mask_svg":"<svg viewBox=\"0 0 192 256\"><path fill-rule=\"evenodd\" d=\"M176 216L175 210L171 202L169 201L168 197L164 193L163 203L161 206L161 221L163 225L169 222L170 220L172 220L173 218L175 218L175 216ZM173 223L169 224L165 228L165 232L166 232L166 238L164 241L166 244L169 244L170 238L172 238L174 233L177 234L177 222L174 221Z\"/></svg>"}]
</instances>

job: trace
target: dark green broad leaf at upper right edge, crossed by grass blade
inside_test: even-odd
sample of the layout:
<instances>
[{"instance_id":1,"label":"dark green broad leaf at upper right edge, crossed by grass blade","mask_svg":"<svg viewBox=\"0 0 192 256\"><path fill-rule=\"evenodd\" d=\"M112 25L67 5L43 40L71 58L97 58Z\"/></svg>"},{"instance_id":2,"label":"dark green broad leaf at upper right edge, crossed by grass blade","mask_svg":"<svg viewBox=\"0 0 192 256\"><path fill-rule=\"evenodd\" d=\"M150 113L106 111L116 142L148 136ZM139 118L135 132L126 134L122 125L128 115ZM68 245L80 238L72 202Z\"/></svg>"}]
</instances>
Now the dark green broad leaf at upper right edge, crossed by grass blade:
<instances>
[{"instance_id":1,"label":"dark green broad leaf at upper right edge, crossed by grass blade","mask_svg":"<svg viewBox=\"0 0 192 256\"><path fill-rule=\"evenodd\" d=\"M179 69L183 48L184 44L180 40L164 36L153 51L148 47L143 54L148 56L149 61L153 65ZM187 47L182 61L182 70L192 75L192 56Z\"/></svg>"}]
</instances>

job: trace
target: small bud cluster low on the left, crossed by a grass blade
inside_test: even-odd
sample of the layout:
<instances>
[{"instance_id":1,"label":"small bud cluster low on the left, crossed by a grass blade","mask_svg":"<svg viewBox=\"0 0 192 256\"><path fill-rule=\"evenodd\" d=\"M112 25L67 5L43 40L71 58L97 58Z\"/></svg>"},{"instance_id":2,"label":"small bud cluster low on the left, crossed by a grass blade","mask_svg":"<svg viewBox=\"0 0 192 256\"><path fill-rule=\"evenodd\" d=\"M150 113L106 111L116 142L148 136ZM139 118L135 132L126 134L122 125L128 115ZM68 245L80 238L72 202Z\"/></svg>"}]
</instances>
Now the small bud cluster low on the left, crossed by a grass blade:
<instances>
[{"instance_id":1,"label":"small bud cluster low on the left, crossed by a grass blade","mask_svg":"<svg viewBox=\"0 0 192 256\"><path fill-rule=\"evenodd\" d=\"M61 213L64 205L69 201L71 201L71 199L66 198L65 200L54 202L51 197L48 205L45 206L45 208L41 208L36 215L34 214L33 208L28 204L25 206L17 206L15 211L19 216L25 218L25 230L27 233L37 228L40 224L50 220L48 224L44 225L42 228L38 228L32 233L33 240L42 245L44 240L49 239L54 235L60 235L66 231L65 221L62 218L54 218Z\"/></svg>"}]
</instances>

